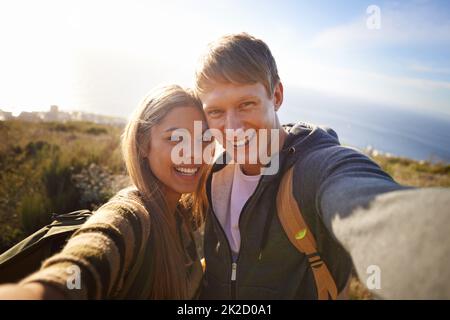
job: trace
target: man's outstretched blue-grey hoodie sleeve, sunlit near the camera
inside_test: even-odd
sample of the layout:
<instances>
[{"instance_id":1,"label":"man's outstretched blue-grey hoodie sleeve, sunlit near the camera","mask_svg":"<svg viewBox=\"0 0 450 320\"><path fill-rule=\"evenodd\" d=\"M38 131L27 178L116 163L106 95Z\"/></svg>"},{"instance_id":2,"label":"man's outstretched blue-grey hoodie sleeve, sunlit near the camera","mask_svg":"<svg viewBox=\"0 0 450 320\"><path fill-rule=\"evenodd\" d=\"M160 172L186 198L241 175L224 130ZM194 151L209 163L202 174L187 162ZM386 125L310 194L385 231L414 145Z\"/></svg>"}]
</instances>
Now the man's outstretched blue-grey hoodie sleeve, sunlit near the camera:
<instances>
[{"instance_id":1,"label":"man's outstretched blue-grey hoodie sleeve, sunlit near the camera","mask_svg":"<svg viewBox=\"0 0 450 320\"><path fill-rule=\"evenodd\" d=\"M448 189L399 185L342 146L307 161L318 211L376 296L450 298Z\"/></svg>"}]
</instances>

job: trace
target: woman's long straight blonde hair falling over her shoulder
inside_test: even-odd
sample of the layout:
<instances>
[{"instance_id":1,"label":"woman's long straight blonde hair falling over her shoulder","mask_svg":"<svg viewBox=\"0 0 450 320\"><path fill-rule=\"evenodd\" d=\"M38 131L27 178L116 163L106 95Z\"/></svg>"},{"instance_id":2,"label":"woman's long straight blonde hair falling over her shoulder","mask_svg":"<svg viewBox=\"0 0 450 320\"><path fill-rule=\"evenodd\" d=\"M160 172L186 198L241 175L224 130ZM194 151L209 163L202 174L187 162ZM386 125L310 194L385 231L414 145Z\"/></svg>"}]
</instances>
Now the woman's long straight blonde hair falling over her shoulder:
<instances>
[{"instance_id":1,"label":"woman's long straight blonde hair falling over her shoulder","mask_svg":"<svg viewBox=\"0 0 450 320\"><path fill-rule=\"evenodd\" d=\"M158 87L150 92L135 110L122 135L122 154L132 183L139 190L151 219L151 240L154 242L153 299L186 299L187 275L183 248L178 241L175 216L168 212L162 183L150 169L148 154L151 128L172 109L196 106L200 100L189 90L177 85ZM202 197L182 196L190 204L196 221L203 221Z\"/></svg>"}]
</instances>

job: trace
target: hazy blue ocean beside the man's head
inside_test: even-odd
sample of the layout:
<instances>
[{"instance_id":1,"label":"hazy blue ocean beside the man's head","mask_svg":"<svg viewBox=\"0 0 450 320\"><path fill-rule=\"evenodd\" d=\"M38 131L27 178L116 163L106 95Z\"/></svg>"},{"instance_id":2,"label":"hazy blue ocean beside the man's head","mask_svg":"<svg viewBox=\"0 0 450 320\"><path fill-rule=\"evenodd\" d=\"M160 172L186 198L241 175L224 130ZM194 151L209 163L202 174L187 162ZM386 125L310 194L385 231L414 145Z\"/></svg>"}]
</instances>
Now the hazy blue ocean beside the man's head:
<instances>
[{"instance_id":1,"label":"hazy blue ocean beside the man's head","mask_svg":"<svg viewBox=\"0 0 450 320\"><path fill-rule=\"evenodd\" d=\"M281 123L333 128L342 144L416 160L450 163L450 116L285 90Z\"/></svg>"}]
</instances>

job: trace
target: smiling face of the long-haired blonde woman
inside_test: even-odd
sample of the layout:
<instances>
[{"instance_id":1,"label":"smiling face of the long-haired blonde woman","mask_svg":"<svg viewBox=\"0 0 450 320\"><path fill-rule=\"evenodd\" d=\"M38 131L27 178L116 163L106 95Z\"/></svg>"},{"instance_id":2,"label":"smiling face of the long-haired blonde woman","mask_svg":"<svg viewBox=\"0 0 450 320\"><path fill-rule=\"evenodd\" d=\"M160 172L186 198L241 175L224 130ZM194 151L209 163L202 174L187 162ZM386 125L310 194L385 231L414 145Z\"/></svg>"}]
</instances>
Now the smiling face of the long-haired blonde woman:
<instances>
[{"instance_id":1,"label":"smiling face of the long-haired blonde woman","mask_svg":"<svg viewBox=\"0 0 450 320\"><path fill-rule=\"evenodd\" d=\"M201 123L201 130L194 132L194 122ZM203 161L199 161L198 155L194 161L194 152L188 157L188 163L182 162L176 164L176 159L172 158L178 154L183 156L184 150L172 153L172 150L180 143L172 138L172 133L179 130L190 135L191 150L194 150L194 141L197 140L202 149L205 143L202 143L203 132L207 129L203 112L195 106L185 106L173 108L157 125L151 129L150 149L148 161L153 174L161 181L165 187L165 192L190 193L196 190ZM186 141L185 141L186 142ZM176 150L180 150L180 145ZM186 154L185 154L186 155ZM186 158L186 159L188 159ZM195 164L195 162L201 162Z\"/></svg>"}]
</instances>

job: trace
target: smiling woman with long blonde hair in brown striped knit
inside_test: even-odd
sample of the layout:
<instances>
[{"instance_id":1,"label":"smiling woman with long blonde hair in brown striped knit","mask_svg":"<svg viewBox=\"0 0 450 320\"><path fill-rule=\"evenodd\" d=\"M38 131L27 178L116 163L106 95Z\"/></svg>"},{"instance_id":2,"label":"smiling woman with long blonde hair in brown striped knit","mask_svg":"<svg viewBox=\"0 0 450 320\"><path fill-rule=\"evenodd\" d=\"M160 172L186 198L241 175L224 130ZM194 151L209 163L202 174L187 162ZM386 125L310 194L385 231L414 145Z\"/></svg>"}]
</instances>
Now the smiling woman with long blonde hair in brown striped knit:
<instances>
[{"instance_id":1,"label":"smiling woman with long blonde hair in brown striped knit","mask_svg":"<svg viewBox=\"0 0 450 320\"><path fill-rule=\"evenodd\" d=\"M194 121L207 129L190 91L153 90L122 136L133 186L100 207L41 270L0 287L0 298L196 298L202 267L193 230L202 208L195 190L204 167L172 161L174 130L203 140L194 136Z\"/></svg>"}]
</instances>

